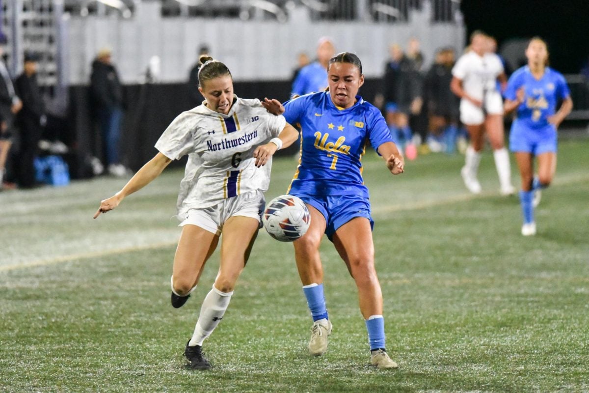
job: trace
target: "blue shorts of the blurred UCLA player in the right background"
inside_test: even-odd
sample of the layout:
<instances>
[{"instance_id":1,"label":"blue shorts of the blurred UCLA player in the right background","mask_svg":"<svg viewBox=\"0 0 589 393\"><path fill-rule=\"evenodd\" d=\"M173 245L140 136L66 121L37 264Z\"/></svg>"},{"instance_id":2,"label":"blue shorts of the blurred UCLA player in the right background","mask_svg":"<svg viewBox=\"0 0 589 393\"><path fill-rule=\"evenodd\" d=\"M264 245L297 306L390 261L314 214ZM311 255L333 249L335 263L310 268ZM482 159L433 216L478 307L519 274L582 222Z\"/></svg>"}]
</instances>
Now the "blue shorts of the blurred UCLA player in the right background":
<instances>
[{"instance_id":1,"label":"blue shorts of the blurred UCLA player in the right background","mask_svg":"<svg viewBox=\"0 0 589 393\"><path fill-rule=\"evenodd\" d=\"M514 120L509 133L509 150L514 152L532 153L534 156L542 153L556 153L557 132L552 124L541 128L531 128L524 123Z\"/></svg>"}]
</instances>

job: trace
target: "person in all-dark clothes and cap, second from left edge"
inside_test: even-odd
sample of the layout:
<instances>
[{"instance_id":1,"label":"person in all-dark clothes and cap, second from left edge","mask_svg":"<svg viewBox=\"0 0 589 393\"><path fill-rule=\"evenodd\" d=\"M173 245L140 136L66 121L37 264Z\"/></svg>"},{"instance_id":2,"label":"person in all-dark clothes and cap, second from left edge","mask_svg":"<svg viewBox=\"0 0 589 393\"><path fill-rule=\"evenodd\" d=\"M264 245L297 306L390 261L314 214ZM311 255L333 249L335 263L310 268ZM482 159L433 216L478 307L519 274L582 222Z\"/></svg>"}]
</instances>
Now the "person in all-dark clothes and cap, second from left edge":
<instances>
[{"instance_id":1,"label":"person in all-dark clothes and cap, second from left edge","mask_svg":"<svg viewBox=\"0 0 589 393\"><path fill-rule=\"evenodd\" d=\"M16 115L21 131L21 146L18 154L18 185L22 188L35 186L35 157L41 139L45 117L45 103L37 83L38 57L25 53L24 71L16 78L16 93L22 100L22 110Z\"/></svg>"}]
</instances>

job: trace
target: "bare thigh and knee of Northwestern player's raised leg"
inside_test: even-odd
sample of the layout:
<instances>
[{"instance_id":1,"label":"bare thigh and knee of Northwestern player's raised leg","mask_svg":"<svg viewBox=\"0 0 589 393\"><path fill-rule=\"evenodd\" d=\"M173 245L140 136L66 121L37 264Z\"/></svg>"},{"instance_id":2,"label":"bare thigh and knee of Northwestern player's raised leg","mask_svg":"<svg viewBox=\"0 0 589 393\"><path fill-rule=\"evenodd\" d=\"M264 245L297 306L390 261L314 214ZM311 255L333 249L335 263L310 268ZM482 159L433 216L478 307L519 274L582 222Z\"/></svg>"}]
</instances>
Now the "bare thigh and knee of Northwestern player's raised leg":
<instances>
[{"instance_id":1,"label":"bare thigh and knee of Northwestern player's raised leg","mask_svg":"<svg viewBox=\"0 0 589 393\"><path fill-rule=\"evenodd\" d=\"M172 269L175 287L190 289L198 282L204 263L218 242L219 235L200 226L186 224L182 227Z\"/></svg>"}]
</instances>

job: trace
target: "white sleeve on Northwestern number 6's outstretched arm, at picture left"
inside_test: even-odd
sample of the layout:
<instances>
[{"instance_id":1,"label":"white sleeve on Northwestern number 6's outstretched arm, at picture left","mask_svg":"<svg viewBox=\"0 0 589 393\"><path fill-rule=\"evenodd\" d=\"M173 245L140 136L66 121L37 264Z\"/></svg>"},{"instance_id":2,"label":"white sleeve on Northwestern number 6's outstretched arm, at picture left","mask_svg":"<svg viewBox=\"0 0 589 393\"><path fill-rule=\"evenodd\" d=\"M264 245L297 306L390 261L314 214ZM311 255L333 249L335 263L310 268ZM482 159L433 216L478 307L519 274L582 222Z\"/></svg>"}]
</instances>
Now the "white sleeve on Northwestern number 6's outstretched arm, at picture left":
<instances>
[{"instance_id":1,"label":"white sleeve on Northwestern number 6's outstretched arm, at picture left","mask_svg":"<svg viewBox=\"0 0 589 393\"><path fill-rule=\"evenodd\" d=\"M155 143L155 148L171 160L179 160L194 150L193 130L197 114L184 112L178 115Z\"/></svg>"}]
</instances>

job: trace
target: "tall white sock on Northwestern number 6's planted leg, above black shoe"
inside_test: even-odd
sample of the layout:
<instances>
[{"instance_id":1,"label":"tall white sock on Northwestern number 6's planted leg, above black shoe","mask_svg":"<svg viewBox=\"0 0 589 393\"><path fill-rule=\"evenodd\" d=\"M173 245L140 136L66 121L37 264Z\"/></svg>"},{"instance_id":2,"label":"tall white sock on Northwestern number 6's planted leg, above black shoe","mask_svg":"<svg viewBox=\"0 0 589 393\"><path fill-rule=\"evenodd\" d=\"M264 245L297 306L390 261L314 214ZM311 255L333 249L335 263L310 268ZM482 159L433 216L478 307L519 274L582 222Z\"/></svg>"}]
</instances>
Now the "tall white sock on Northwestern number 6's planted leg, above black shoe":
<instances>
[{"instance_id":1,"label":"tall white sock on Northwestern number 6's planted leg, above black shoe","mask_svg":"<svg viewBox=\"0 0 589 393\"><path fill-rule=\"evenodd\" d=\"M200 315L198 316L198 321L196 322L196 326L194 326L194 333L188 345L203 345L204 339L213 333L219 322L221 322L221 319L223 319L227 306L229 306L231 295L233 295L233 291L227 293L221 292L213 285L213 289L204 298L203 305L200 307Z\"/></svg>"}]
</instances>

